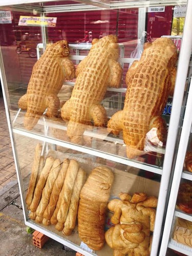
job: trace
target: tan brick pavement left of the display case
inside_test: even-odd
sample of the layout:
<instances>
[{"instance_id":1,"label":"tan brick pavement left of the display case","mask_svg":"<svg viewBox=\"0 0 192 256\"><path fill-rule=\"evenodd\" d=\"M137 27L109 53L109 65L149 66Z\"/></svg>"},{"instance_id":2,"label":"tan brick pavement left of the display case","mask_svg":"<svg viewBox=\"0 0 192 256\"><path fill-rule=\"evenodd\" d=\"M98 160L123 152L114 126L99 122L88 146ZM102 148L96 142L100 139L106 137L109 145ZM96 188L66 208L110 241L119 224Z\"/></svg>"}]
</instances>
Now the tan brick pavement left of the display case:
<instances>
[{"instance_id":1,"label":"tan brick pavement left of the display case","mask_svg":"<svg viewBox=\"0 0 192 256\"><path fill-rule=\"evenodd\" d=\"M0 97L0 189L17 180L3 97Z\"/></svg>"}]
</instances>

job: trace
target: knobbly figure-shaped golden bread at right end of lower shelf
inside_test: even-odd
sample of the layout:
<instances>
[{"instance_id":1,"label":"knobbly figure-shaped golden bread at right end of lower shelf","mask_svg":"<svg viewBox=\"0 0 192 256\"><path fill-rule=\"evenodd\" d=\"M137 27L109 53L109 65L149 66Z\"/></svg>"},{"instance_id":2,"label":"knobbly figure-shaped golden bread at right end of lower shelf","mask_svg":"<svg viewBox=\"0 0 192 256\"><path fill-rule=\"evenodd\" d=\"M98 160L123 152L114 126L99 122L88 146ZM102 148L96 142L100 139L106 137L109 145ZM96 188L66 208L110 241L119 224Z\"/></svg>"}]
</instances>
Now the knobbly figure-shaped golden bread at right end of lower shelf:
<instances>
[{"instance_id":1,"label":"knobbly figure-shaped golden bread at right end of lower shelf","mask_svg":"<svg viewBox=\"0 0 192 256\"><path fill-rule=\"evenodd\" d=\"M120 195L122 199L129 196ZM150 233L154 230L156 214L155 209L145 207L150 205L156 207L157 199L146 197L145 193L135 193L130 201L113 199L109 202L115 226L105 232L105 240L115 254L150 256Z\"/></svg>"}]
</instances>

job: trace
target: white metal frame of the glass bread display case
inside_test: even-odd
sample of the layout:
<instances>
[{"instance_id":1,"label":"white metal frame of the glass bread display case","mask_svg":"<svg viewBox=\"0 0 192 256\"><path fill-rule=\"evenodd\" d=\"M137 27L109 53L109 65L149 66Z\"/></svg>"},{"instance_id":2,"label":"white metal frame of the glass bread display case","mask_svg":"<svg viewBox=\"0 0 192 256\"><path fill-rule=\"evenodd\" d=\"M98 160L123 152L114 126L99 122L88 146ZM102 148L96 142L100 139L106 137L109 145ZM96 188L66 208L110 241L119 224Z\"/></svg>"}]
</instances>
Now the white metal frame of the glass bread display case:
<instances>
[{"instance_id":1,"label":"white metal frame of the glass bread display case","mask_svg":"<svg viewBox=\"0 0 192 256\"><path fill-rule=\"evenodd\" d=\"M57 0L52 0L52 1L37 1L37 0L10 0L9 4L7 4L7 1L1 1L0 3L0 8L1 9L6 9L7 7L5 6L10 6L12 10L20 10L24 8L30 8L27 4L35 4L35 3L45 3L45 2L56 2ZM51 13L51 12L69 12L71 10L73 11L90 11L90 10L113 10L113 9L119 9L119 8L146 8L150 6L172 6L172 5L182 5L186 4L186 1L92 1L92 0L80 0L77 1L79 4L73 4L73 5L61 5L61 6L44 6L44 5L39 5L38 11L41 12L41 16L43 17L46 15L46 13ZM42 226L39 226L35 224L34 222L30 221L28 218L28 210L26 208L25 204L25 193L24 193L24 187L22 184L22 176L19 171L19 163L18 163L18 158L17 158L17 152L16 152L16 147L15 147L15 141L14 141L14 134L19 134L23 135L26 137L30 137L36 140L40 140L46 143L51 143L57 146L63 146L67 148L71 148L72 150L76 150L82 153L87 153L96 157L100 157L103 159L108 159L114 162L122 163L125 165L137 167L143 170L147 170L148 172L152 173L157 173L161 175L161 182L160 182L160 189L159 189L159 196L158 196L158 205L157 205L157 211L156 211L156 221L155 221L155 229L153 232L153 243L152 243L152 249L151 249L151 255L158 255L159 247L160 247L160 255L165 255L166 253L166 248L167 246L172 248L170 246L169 242L169 232L171 225L169 223L171 222L170 220L173 220L173 215L175 212L175 215L179 215L179 211L173 211L173 208L175 208L175 202L176 202L176 194L178 191L178 186L179 186L179 178L178 177L186 177L186 179L192 180L190 174L182 174L181 175L181 169L182 169L182 164L184 161L184 153L185 148L187 145L187 142L185 142L186 137L189 134L189 129L188 129L188 124L191 124L191 117L189 118L189 114L191 113L191 106L190 106L190 100L192 97L192 90L190 87L189 90L189 96L188 96L188 101L186 105L186 112L185 112L185 117L184 117L184 123L183 123L183 129L181 132L181 139L180 139L180 144L179 144L179 150L178 150L178 155L177 155L177 161L175 165L175 175L173 178L173 185L172 189L170 190L170 197L169 197L169 189L168 187L170 186L170 182L172 181L170 179L171 177L171 172L174 170L174 159L175 159L175 153L176 153L176 142L178 141L178 132L181 129L180 127L180 117L183 115L183 96L185 92L185 86L186 86L186 79L187 79L187 72L188 72L188 67L189 67L189 59L190 59L190 54L191 54L191 46L192 46L192 30L191 30L191 24L192 24L192 18L191 18L191 13L192 13L192 1L189 0L187 3L187 12L186 12L186 18L185 18L185 25L184 25L184 33L182 36L182 46L181 46L181 51L180 51L180 56L179 56L179 61L178 61L178 69L177 69L177 78L176 78L176 83L175 83L175 92L174 92L174 98L173 98L173 107L172 107L172 114L170 117L170 122L169 122L169 130L168 130L168 136L167 136L167 142L166 142L166 148L165 148L165 153L164 153L164 161L163 161L163 167L158 168L150 165L145 165L143 163L139 163L136 161L132 161L130 159L125 159L119 156L114 156L111 154L107 154L104 152L98 152L95 151L92 148L86 148L82 147L80 145L72 144L69 142L61 141L61 140L55 140L54 138L49 138L45 136L41 136L38 134L34 134L33 132L28 132L28 131L23 131L19 130L15 127L13 127L13 120L11 119L10 111L9 111L9 94L7 90L7 81L6 81L6 74L5 74L5 69L4 69L4 63L3 63L3 57L2 53L0 56L0 70L1 70L1 81L2 81L2 86L3 86L3 95L4 95L4 101L5 101L5 109L6 109L6 115L7 115L7 120L8 120L8 126L9 126L9 132L10 132L10 138L11 138L11 143L13 147L13 156L15 160L15 165L16 165L16 173L18 177L18 185L19 185L19 190L20 190L20 195L22 199L22 206L24 210L24 219L25 219L25 224L46 234L48 237L60 242L61 244L65 244L66 246L84 254L84 255L93 255L94 253L89 252L84 250L83 248L80 248L76 244L70 242L69 240L66 240L65 238L60 237L57 233L52 232ZM46 35L46 30L45 28L41 29L42 31L42 46L44 49L46 48L47 44L47 35ZM121 59L119 60L120 62L122 61L127 61L126 58L123 58L121 56ZM118 91L119 90L119 91ZM124 89L117 89L117 92L124 92ZM49 123L47 123L49 126ZM93 136L93 135L92 135ZM97 135L96 136L100 136ZM183 151L183 152L182 152ZM178 175L178 176L177 176ZM176 194L175 194L176 193ZM167 211L167 218L165 221L165 228L164 228L164 233L162 236L162 224L163 224L163 217L166 212L166 200L169 197L169 204L168 204L168 211ZM192 221L191 217L188 217L187 215L184 215L185 219L189 219ZM161 243L161 238L162 238L162 243ZM174 249L177 250L177 246L174 247ZM178 249L179 251L179 249Z\"/></svg>"}]
</instances>

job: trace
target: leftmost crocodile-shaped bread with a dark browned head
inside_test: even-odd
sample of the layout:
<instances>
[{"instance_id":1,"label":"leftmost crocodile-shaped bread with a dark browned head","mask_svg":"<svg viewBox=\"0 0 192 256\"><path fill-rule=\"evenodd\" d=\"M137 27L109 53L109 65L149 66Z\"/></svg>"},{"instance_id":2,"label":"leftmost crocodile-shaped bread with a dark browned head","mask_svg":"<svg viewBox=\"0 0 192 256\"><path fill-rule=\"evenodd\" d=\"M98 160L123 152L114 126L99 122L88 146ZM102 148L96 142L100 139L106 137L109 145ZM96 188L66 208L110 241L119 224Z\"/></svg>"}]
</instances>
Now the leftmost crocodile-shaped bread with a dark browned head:
<instances>
[{"instance_id":1,"label":"leftmost crocodile-shaped bread with a dark browned head","mask_svg":"<svg viewBox=\"0 0 192 256\"><path fill-rule=\"evenodd\" d=\"M46 115L54 117L59 109L59 93L63 81L75 77L75 67L69 60L70 50L66 40L49 44L36 61L29 80L27 93L19 101L20 109L27 110L24 126L31 130L47 109Z\"/></svg>"}]
</instances>

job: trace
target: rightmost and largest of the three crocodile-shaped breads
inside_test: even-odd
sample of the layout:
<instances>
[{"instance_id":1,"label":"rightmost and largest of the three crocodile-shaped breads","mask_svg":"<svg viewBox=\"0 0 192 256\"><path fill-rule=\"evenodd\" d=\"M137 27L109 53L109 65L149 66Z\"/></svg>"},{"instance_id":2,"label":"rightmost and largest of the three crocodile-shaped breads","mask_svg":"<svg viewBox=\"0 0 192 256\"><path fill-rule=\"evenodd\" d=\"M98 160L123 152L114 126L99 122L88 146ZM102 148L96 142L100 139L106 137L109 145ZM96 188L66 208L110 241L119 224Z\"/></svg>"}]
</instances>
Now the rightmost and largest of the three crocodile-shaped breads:
<instances>
[{"instance_id":1,"label":"rightmost and largest of the three crocodile-shaped breads","mask_svg":"<svg viewBox=\"0 0 192 256\"><path fill-rule=\"evenodd\" d=\"M144 45L140 60L126 73L124 108L108 122L109 132L123 131L126 155L143 154L145 136L152 127L164 142L166 125L161 118L168 96L173 95L176 78L177 48L170 38L158 38Z\"/></svg>"}]
</instances>

